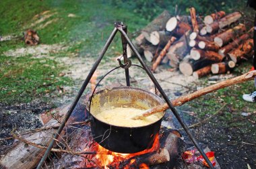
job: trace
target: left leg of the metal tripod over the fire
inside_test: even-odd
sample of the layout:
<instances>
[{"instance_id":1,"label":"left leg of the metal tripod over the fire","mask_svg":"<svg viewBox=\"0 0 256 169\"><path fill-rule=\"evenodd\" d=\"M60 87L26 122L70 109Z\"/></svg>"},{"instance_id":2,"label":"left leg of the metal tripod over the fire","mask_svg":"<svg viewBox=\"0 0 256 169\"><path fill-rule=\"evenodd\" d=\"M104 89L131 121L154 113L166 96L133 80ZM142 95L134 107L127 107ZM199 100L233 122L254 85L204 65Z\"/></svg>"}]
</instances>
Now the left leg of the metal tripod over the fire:
<instances>
[{"instance_id":1,"label":"left leg of the metal tripod over the fire","mask_svg":"<svg viewBox=\"0 0 256 169\"><path fill-rule=\"evenodd\" d=\"M61 131L65 127L65 123L69 119L71 113L73 112L73 109L75 109L77 102L79 101L79 99L82 96L82 94L84 93L84 90L86 89L88 83L90 82L90 79L92 78L92 74L94 74L96 68L98 67L98 64L100 64L100 61L102 60L104 54L106 53L106 50L108 50L108 46L111 44L111 42L113 41L113 38L115 37L116 34L117 34L117 28L115 27L113 32L110 34L110 37L106 41L106 44L105 44L104 48L102 49L102 52L100 52L98 59L94 63L94 66L92 66L92 69L90 70L88 76L86 77L86 80L84 80L84 84L82 85L81 89L77 93L75 100L73 101L73 103L71 104L71 107L69 108L69 111L67 111L67 114L65 115L65 119L61 122L61 125L59 126L57 133L55 133L53 139L51 140L49 146L47 147L46 151L44 152L44 156L42 156L36 169L40 169L42 167L42 164L44 164L44 161L46 160L46 158L48 158L48 156L51 152L51 149L53 148L53 145L55 144L55 140L57 139L57 137L60 135Z\"/></svg>"}]
</instances>

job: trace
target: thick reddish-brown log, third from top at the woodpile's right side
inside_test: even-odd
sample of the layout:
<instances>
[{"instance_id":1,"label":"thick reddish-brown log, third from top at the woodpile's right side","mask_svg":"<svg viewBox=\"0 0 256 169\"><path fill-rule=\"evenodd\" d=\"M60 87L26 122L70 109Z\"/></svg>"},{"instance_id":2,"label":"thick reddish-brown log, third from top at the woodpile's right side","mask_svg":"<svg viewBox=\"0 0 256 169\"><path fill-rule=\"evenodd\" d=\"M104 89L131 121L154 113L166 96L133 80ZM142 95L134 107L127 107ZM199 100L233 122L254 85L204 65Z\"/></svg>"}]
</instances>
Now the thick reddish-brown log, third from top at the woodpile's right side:
<instances>
[{"instance_id":1,"label":"thick reddish-brown log, third from top at the woodpile's right side","mask_svg":"<svg viewBox=\"0 0 256 169\"><path fill-rule=\"evenodd\" d=\"M218 46L222 47L225 44L228 44L230 40L234 40L236 36L240 36L246 31L246 27L244 24L239 24L236 27L233 27L229 30L226 30L222 34L216 36L214 38L214 42L218 44Z\"/></svg>"}]
</instances>

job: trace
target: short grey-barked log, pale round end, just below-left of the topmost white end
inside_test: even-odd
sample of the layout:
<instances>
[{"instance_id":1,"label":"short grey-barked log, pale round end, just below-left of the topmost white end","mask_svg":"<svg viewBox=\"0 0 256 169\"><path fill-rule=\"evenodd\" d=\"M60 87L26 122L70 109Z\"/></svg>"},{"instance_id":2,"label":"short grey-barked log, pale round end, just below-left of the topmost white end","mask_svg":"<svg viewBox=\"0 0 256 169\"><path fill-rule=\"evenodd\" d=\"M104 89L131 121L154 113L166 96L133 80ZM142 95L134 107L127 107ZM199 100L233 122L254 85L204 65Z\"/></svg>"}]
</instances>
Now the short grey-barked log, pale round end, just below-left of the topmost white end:
<instances>
[{"instance_id":1,"label":"short grey-barked log, pale round end, just below-left of the topmost white end","mask_svg":"<svg viewBox=\"0 0 256 169\"><path fill-rule=\"evenodd\" d=\"M165 31L154 31L150 34L150 42L153 45L164 46L170 40L170 34Z\"/></svg>"}]
</instances>

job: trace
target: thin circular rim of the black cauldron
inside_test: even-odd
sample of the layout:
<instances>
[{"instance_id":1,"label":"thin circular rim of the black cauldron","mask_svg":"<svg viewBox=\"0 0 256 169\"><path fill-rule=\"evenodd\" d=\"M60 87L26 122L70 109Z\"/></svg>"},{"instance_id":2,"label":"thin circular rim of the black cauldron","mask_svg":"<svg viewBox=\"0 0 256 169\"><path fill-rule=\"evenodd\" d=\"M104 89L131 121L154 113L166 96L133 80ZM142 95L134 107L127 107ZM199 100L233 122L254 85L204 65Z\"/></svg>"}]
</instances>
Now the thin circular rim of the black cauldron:
<instances>
[{"instance_id":1,"label":"thin circular rim of the black cauldron","mask_svg":"<svg viewBox=\"0 0 256 169\"><path fill-rule=\"evenodd\" d=\"M140 89L140 88L136 88L136 87L112 87L112 88L106 88L106 89L100 89L99 91L96 91L94 93L94 95L97 95L97 94L100 94L100 93L103 93L104 91L111 91L111 90L115 90L115 89L131 89L131 90L136 90L136 91L142 91L144 93L147 93L148 95L151 95L152 97L154 97L154 99L156 99L157 101L159 101L160 104L163 104L164 101L156 94L154 93L151 93L150 91L146 91L146 90L143 90L143 89ZM93 96L92 96L93 97ZM90 102L90 101L89 101ZM90 104L90 103L89 103ZM92 113L90 113L90 111L88 110L89 114L92 115ZM158 121L162 121L162 118L164 117L165 115L165 112L166 111L163 111L163 114L162 114L162 117L160 117L157 121L154 121L148 125L152 125L154 123L157 123ZM138 126L138 127L123 127L123 126L119 126L119 125L112 125L110 123L106 123L105 121L102 121L98 118L96 118L94 115L92 115L92 117L94 117L95 119L97 119L98 121L102 122L102 123L105 123L106 125L110 125L110 126L113 126L113 127L120 127L120 128L130 128L130 129L136 129L136 128L141 128L141 127L146 127L148 125L141 125L141 126Z\"/></svg>"}]
</instances>

